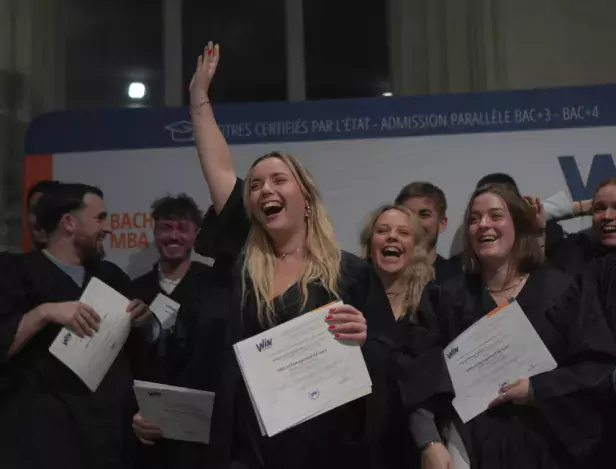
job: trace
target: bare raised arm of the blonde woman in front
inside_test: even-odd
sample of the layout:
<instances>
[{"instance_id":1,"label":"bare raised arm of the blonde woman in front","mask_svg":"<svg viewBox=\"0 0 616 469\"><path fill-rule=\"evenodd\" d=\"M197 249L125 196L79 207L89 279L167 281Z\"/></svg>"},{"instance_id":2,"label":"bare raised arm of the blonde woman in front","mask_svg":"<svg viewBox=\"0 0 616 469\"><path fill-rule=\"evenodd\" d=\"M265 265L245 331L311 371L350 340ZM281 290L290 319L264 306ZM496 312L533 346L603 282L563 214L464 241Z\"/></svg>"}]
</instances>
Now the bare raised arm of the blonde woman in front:
<instances>
[{"instance_id":1,"label":"bare raised arm of the blonde woman in front","mask_svg":"<svg viewBox=\"0 0 616 469\"><path fill-rule=\"evenodd\" d=\"M210 41L203 55L199 56L190 82L190 113L195 142L216 213L222 211L237 179L229 145L218 128L208 96L219 58L219 45L214 46Z\"/></svg>"}]
</instances>

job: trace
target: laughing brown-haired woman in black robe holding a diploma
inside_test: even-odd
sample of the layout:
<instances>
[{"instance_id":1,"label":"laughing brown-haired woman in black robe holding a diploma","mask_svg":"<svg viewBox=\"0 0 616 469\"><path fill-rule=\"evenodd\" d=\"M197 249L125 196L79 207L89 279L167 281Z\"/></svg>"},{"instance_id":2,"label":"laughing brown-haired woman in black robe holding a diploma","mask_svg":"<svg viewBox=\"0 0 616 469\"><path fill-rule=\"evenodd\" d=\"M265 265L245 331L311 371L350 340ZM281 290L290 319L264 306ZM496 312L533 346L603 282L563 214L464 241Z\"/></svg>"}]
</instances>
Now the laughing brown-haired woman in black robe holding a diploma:
<instances>
[{"instance_id":1,"label":"laughing brown-haired woman in black robe holding a diploma","mask_svg":"<svg viewBox=\"0 0 616 469\"><path fill-rule=\"evenodd\" d=\"M600 308L543 265L535 214L502 185L478 188L465 215L465 274L427 288L418 323L445 347L515 298L558 367L494 390L489 409L458 426L471 467L593 467L616 361ZM516 377L512 377L515 379Z\"/></svg>"}]
</instances>

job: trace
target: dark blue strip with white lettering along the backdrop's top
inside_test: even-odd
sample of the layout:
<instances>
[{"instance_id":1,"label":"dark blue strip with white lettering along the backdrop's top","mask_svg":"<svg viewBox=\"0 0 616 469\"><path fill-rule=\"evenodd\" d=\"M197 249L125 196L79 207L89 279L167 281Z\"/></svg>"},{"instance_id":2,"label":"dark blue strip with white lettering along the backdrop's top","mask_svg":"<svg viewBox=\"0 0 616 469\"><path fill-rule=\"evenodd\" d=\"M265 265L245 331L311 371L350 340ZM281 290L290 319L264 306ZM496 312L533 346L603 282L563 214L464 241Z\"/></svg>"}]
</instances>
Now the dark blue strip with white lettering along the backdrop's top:
<instances>
[{"instance_id":1,"label":"dark blue strip with white lettering along the backdrop's top","mask_svg":"<svg viewBox=\"0 0 616 469\"><path fill-rule=\"evenodd\" d=\"M215 105L230 144L616 125L616 85L510 92ZM187 108L46 114L27 154L193 145Z\"/></svg>"}]
</instances>

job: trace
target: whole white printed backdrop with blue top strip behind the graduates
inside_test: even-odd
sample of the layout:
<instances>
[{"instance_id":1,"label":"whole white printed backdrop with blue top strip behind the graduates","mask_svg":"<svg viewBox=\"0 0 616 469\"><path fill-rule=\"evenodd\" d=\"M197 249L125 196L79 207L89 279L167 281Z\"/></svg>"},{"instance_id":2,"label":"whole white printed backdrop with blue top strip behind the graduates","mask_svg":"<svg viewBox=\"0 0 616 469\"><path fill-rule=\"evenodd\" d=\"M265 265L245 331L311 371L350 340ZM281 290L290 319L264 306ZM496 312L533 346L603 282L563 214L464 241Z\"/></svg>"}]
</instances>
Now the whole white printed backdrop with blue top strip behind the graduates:
<instances>
[{"instance_id":1,"label":"whole white printed backdrop with blue top strip behind the graduates","mask_svg":"<svg viewBox=\"0 0 616 469\"><path fill-rule=\"evenodd\" d=\"M272 150L313 173L342 246L358 252L366 214L411 181L441 187L453 236L477 180L511 174L527 194L592 196L616 176L616 85L516 92L215 106L240 175ZM207 187L187 109L53 113L27 139L27 190L40 179L84 182L105 192L113 232L108 259L136 276L156 259L150 204L185 192L202 209ZM569 230L588 219L565 223ZM24 239L24 249L29 240Z\"/></svg>"}]
</instances>

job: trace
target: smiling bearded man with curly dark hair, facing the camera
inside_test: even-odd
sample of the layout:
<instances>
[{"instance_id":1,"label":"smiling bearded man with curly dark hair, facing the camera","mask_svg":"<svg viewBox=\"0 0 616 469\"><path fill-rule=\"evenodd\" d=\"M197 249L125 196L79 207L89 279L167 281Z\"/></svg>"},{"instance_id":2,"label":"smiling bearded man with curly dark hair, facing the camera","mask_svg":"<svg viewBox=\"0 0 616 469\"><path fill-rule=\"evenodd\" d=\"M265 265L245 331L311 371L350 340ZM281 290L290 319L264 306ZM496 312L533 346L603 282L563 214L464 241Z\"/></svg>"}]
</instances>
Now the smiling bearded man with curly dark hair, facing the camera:
<instances>
[{"instance_id":1,"label":"smiling bearded man with curly dark hair, facing the camera","mask_svg":"<svg viewBox=\"0 0 616 469\"><path fill-rule=\"evenodd\" d=\"M214 269L201 262L191 261L198 227L201 225L201 212L191 197L179 194L154 201L152 218L154 243L160 258L150 272L133 281L133 287L148 304L152 304L160 295L165 304L169 305L173 301L179 309L175 318L169 317L159 323L161 333L155 344L147 349L136 343L131 344L131 363L137 379L182 385L180 376L193 353L193 339L198 337L200 342L207 342L207 346L212 347L207 354L213 357L218 340L224 337L224 334L217 332L221 329L201 314L203 309L199 306L201 298L208 296ZM203 322L207 325L200 329ZM196 331L200 330L211 335L199 335ZM208 375L206 381L213 376L211 370L205 367L199 373ZM145 445L140 447L137 467L175 467L181 448L185 452L195 451L196 458L200 457L200 451L203 450L198 447L200 445L193 449L182 442L161 439L160 430L145 421L140 414L134 417L134 428L140 437L148 436L157 440L155 445L144 442Z\"/></svg>"}]
</instances>

